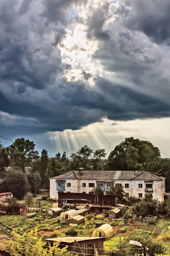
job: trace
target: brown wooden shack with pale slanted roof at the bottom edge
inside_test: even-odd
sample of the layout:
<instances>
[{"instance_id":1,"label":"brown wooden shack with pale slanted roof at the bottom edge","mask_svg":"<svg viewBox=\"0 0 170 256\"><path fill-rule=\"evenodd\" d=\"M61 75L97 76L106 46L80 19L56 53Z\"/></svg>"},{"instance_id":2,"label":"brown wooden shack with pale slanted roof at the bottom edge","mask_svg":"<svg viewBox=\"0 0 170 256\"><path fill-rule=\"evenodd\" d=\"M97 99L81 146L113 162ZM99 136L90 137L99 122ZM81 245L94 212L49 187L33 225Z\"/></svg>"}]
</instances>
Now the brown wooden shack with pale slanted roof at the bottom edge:
<instances>
[{"instance_id":1,"label":"brown wooden shack with pale slanted roof at the bottom edge","mask_svg":"<svg viewBox=\"0 0 170 256\"><path fill-rule=\"evenodd\" d=\"M45 239L48 243L53 246L54 242L60 242L58 247L60 249L67 247L68 252L82 253L84 255L96 255L95 248L99 255L103 255L103 242L106 240L105 237L57 237ZM94 248L95 247L95 248Z\"/></svg>"}]
</instances>

